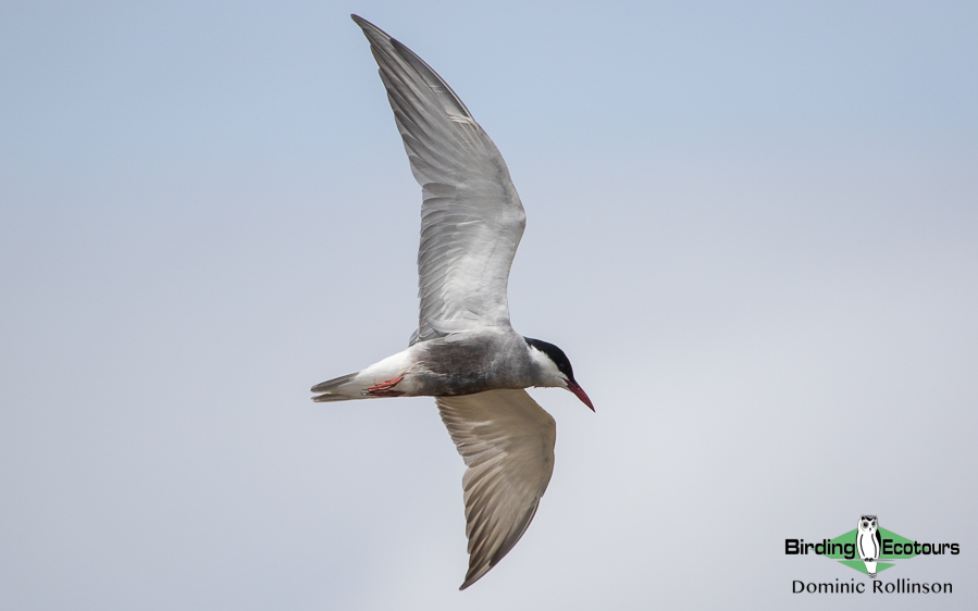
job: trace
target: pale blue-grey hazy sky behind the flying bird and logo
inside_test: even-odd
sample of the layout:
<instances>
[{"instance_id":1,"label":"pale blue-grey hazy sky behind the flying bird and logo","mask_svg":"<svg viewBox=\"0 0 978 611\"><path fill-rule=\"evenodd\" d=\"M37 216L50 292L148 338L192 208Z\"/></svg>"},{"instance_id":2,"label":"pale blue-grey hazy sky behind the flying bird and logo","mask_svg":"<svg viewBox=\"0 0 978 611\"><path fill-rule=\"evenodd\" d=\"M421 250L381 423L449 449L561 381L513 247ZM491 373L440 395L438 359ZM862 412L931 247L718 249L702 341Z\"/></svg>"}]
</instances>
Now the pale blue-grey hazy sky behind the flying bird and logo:
<instances>
[{"instance_id":1,"label":"pale blue-grey hazy sky behind the flying bird and logo","mask_svg":"<svg viewBox=\"0 0 978 611\"><path fill-rule=\"evenodd\" d=\"M367 40L528 214L515 328L594 400L457 591L431 399L308 389L417 325L420 189ZM974 609L978 4L0 2L0 607ZM862 513L960 556L784 554Z\"/></svg>"}]
</instances>

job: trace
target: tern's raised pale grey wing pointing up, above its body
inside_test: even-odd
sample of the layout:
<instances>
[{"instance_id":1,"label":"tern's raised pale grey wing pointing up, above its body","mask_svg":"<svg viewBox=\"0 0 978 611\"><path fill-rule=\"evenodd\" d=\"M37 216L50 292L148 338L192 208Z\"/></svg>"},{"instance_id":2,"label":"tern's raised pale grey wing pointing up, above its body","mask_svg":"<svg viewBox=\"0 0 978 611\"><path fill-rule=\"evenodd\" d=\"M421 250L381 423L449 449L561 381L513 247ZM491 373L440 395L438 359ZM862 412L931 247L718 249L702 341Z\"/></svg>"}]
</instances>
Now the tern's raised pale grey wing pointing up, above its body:
<instances>
[{"instance_id":1,"label":"tern's raised pale grey wing pointing up, above its body","mask_svg":"<svg viewBox=\"0 0 978 611\"><path fill-rule=\"evenodd\" d=\"M509 324L509 267L525 214L496 146L435 72L410 49L352 15L421 185L421 311L411 344Z\"/></svg>"}]
</instances>

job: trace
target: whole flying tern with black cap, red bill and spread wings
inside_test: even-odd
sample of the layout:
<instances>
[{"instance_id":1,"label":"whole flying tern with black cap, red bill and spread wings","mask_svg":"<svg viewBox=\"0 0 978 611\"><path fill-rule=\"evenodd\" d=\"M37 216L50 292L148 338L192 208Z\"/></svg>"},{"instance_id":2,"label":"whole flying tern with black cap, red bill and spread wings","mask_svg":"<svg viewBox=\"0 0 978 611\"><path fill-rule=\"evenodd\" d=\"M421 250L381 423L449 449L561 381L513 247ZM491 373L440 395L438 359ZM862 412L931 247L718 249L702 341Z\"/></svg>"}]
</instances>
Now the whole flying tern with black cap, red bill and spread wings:
<instances>
[{"instance_id":1,"label":"whole flying tern with black cap, red bill and spread wings","mask_svg":"<svg viewBox=\"0 0 978 611\"><path fill-rule=\"evenodd\" d=\"M525 388L566 388L591 410L570 361L509 324L506 286L525 214L496 146L410 49L363 29L421 185L421 311L407 350L312 387L313 401L434 397L466 462L466 589L517 544L554 472L556 423Z\"/></svg>"}]
</instances>

